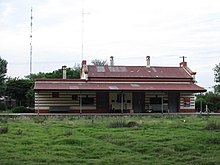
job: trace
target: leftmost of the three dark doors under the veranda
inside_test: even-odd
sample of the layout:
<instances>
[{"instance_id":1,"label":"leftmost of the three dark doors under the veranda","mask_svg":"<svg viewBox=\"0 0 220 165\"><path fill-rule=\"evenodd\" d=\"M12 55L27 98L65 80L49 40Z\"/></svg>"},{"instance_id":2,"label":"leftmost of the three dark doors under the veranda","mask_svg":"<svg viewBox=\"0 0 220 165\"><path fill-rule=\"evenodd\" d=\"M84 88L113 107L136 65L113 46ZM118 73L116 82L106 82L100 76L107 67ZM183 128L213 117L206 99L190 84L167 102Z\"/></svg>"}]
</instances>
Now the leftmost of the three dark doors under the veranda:
<instances>
[{"instance_id":1,"label":"leftmost of the three dark doors under the veranda","mask_svg":"<svg viewBox=\"0 0 220 165\"><path fill-rule=\"evenodd\" d=\"M109 112L109 94L107 92L96 93L96 111L98 113Z\"/></svg>"}]
</instances>

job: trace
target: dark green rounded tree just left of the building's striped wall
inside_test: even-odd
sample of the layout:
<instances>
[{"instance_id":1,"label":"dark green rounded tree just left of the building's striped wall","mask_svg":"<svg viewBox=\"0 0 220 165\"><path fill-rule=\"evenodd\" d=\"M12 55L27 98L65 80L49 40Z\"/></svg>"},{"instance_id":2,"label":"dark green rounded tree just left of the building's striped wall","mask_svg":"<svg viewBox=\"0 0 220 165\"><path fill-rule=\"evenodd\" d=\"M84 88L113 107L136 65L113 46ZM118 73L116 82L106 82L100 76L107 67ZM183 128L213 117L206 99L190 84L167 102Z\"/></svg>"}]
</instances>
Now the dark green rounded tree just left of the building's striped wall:
<instances>
[{"instance_id":1,"label":"dark green rounded tree just left of the building's striped wall","mask_svg":"<svg viewBox=\"0 0 220 165\"><path fill-rule=\"evenodd\" d=\"M8 79L6 82L6 95L16 100L18 106L29 106L27 93L33 89L33 81L30 79Z\"/></svg>"}]
</instances>

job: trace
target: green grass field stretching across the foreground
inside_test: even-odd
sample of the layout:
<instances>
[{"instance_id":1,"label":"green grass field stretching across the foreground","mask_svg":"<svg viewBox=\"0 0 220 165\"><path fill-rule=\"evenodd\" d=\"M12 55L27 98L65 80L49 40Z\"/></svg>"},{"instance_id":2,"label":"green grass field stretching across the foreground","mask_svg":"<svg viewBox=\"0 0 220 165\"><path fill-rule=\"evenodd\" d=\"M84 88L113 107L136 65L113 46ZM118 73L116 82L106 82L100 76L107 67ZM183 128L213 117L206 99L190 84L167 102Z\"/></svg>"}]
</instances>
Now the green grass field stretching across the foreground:
<instances>
[{"instance_id":1,"label":"green grass field stretching across the foreground","mask_svg":"<svg viewBox=\"0 0 220 165\"><path fill-rule=\"evenodd\" d=\"M0 117L0 164L220 164L219 117Z\"/></svg>"}]
</instances>

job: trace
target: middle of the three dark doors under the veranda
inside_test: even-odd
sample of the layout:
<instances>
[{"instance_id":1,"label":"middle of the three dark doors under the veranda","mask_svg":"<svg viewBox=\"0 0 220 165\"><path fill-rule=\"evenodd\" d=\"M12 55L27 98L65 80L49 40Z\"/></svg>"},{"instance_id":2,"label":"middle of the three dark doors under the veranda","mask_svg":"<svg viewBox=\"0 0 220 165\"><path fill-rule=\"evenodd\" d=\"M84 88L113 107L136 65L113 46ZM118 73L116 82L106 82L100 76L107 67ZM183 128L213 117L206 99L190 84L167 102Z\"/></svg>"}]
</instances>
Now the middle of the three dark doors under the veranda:
<instances>
[{"instance_id":1,"label":"middle of the three dark doors under the veranda","mask_svg":"<svg viewBox=\"0 0 220 165\"><path fill-rule=\"evenodd\" d=\"M133 93L133 109L135 113L142 113L145 111L145 93Z\"/></svg>"}]
</instances>

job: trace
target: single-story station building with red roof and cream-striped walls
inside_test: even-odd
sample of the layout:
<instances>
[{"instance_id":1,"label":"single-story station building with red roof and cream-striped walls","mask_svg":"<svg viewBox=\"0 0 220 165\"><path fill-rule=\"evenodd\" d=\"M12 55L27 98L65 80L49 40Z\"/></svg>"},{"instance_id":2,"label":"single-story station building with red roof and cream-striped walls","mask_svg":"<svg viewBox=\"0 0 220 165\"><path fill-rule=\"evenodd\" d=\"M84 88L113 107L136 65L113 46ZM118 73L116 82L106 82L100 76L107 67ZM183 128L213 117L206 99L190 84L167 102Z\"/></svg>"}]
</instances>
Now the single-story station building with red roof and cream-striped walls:
<instances>
[{"instance_id":1,"label":"single-story station building with red roof and cream-striped walls","mask_svg":"<svg viewBox=\"0 0 220 165\"><path fill-rule=\"evenodd\" d=\"M35 111L69 113L195 112L195 72L183 61L178 67L87 65L80 79L36 79Z\"/></svg>"}]
</instances>

